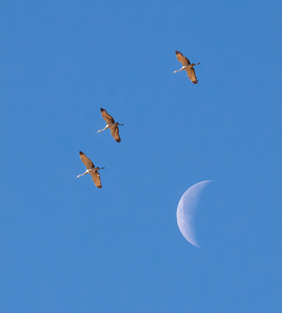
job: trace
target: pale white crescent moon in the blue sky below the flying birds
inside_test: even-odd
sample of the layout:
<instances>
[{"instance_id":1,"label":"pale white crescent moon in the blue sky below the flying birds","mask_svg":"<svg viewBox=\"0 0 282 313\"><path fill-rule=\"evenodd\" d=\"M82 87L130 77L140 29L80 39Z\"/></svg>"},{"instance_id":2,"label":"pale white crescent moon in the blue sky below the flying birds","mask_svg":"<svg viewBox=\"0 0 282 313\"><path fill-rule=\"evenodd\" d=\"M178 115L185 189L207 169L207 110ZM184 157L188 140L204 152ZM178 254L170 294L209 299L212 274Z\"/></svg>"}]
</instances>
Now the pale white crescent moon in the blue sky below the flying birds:
<instances>
[{"instance_id":1,"label":"pale white crescent moon in the blue sky below the flying birds","mask_svg":"<svg viewBox=\"0 0 282 313\"><path fill-rule=\"evenodd\" d=\"M212 180L198 182L185 191L180 199L180 202L178 203L178 209L176 212L180 232L183 236L185 236L185 239L189 241L189 243L198 248L200 248L200 246L198 246L198 242L196 240L194 216L201 191L209 182L212 182Z\"/></svg>"}]
</instances>

